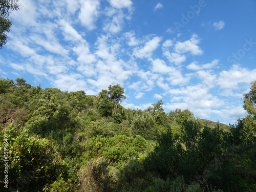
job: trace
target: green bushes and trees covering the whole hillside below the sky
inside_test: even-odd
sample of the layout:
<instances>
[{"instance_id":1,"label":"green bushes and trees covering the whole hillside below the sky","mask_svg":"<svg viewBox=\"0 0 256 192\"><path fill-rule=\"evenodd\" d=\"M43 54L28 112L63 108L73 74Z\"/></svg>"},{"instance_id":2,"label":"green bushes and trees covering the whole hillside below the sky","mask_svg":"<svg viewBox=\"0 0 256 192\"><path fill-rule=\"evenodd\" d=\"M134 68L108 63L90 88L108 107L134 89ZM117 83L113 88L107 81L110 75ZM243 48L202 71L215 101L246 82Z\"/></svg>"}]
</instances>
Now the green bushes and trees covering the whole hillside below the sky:
<instances>
[{"instance_id":1,"label":"green bushes and trees covering the whole hillside below the sky","mask_svg":"<svg viewBox=\"0 0 256 192\"><path fill-rule=\"evenodd\" d=\"M124 109L120 84L90 96L0 78L1 191L256 191L255 90L227 126L162 100Z\"/></svg>"}]
</instances>

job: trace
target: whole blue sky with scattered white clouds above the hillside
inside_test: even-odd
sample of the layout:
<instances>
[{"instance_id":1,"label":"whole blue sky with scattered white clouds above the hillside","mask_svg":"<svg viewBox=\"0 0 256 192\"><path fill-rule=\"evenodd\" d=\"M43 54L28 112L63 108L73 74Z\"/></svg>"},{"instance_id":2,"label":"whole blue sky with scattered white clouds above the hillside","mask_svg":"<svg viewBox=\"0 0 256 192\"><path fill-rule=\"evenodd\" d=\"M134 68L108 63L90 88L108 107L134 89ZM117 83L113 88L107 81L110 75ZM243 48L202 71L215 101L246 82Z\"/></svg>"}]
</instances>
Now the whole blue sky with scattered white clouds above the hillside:
<instances>
[{"instance_id":1,"label":"whole blue sky with scattered white clouds above the hillside","mask_svg":"<svg viewBox=\"0 0 256 192\"><path fill-rule=\"evenodd\" d=\"M121 84L125 108L233 124L256 79L254 0L19 0L2 78L97 95Z\"/></svg>"}]
</instances>

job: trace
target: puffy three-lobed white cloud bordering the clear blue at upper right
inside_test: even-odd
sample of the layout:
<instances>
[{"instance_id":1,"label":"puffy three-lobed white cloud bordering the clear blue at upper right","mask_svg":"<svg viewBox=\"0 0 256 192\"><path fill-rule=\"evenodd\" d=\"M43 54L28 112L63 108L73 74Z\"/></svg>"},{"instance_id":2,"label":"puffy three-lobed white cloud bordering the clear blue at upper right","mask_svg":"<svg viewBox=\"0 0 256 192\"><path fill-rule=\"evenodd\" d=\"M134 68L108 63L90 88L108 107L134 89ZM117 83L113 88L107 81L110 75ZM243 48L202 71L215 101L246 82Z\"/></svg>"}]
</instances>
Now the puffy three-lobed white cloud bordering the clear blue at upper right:
<instances>
[{"instance_id":1,"label":"puffy three-lobed white cloud bordering the clear blue at upper right","mask_svg":"<svg viewBox=\"0 0 256 192\"><path fill-rule=\"evenodd\" d=\"M175 51L177 53L186 53L190 52L193 55L201 55L203 51L200 49L197 44L199 44L200 40L196 34L193 34L189 40L184 42L176 42Z\"/></svg>"}]
</instances>

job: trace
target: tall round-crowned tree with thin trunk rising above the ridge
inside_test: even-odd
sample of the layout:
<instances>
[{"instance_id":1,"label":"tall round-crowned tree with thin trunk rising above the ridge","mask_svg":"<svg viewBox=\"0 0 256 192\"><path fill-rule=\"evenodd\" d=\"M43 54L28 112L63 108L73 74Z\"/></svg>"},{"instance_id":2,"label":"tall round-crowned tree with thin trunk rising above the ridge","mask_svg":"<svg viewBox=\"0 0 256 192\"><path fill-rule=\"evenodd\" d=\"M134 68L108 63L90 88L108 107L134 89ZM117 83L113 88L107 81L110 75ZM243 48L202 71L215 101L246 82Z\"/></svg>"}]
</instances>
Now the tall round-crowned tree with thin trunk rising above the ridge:
<instances>
[{"instance_id":1,"label":"tall round-crowned tree with thin trunk rising above the ridge","mask_svg":"<svg viewBox=\"0 0 256 192\"><path fill-rule=\"evenodd\" d=\"M120 84L115 84L114 86L110 85L108 94L110 100L115 102L114 108L112 109L112 114L115 115L118 104L121 103L123 99L126 99L124 89Z\"/></svg>"}]
</instances>

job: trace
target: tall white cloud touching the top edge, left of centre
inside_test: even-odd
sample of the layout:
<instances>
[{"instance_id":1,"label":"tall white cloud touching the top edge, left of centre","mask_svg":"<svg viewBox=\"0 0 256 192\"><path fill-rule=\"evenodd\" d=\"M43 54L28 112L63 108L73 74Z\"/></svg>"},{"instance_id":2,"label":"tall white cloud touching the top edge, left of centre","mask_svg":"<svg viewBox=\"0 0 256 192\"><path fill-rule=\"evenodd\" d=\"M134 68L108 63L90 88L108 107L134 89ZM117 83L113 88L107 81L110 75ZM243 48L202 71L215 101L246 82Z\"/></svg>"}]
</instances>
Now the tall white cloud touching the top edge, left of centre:
<instances>
[{"instance_id":1,"label":"tall white cloud touching the top edge, left of centre","mask_svg":"<svg viewBox=\"0 0 256 192\"><path fill-rule=\"evenodd\" d=\"M98 0L81 1L81 10L78 18L82 25L89 30L94 29L94 23L98 17L100 3Z\"/></svg>"}]
</instances>

